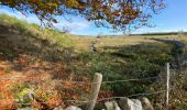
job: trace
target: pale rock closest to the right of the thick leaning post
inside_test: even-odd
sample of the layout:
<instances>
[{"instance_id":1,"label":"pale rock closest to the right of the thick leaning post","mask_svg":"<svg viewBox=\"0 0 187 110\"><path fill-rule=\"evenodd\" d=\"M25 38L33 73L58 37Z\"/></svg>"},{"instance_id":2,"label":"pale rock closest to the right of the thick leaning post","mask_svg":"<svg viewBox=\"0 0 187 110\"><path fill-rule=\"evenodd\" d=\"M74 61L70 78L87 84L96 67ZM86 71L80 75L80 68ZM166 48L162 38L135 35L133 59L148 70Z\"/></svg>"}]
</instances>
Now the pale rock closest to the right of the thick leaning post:
<instances>
[{"instance_id":1,"label":"pale rock closest to the right of the thick leaning post","mask_svg":"<svg viewBox=\"0 0 187 110\"><path fill-rule=\"evenodd\" d=\"M121 110L117 101L107 101L105 102L107 110Z\"/></svg>"}]
</instances>

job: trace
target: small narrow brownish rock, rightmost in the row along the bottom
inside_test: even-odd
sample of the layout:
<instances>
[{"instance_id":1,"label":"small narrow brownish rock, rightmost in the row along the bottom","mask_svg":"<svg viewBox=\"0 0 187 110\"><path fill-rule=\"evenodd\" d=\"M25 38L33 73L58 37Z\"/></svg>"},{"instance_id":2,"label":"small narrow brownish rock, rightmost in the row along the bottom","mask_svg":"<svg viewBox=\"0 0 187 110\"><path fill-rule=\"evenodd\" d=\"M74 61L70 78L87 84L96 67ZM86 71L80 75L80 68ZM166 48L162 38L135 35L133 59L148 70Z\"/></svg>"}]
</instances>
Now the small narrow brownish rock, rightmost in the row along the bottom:
<instances>
[{"instance_id":1,"label":"small narrow brownish rock, rightmost in the row along the bottom","mask_svg":"<svg viewBox=\"0 0 187 110\"><path fill-rule=\"evenodd\" d=\"M141 100L142 100L143 110L154 110L153 106L151 105L147 98L143 97Z\"/></svg>"}]
</instances>

